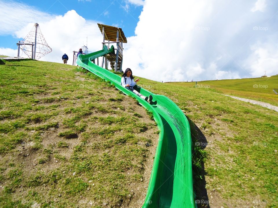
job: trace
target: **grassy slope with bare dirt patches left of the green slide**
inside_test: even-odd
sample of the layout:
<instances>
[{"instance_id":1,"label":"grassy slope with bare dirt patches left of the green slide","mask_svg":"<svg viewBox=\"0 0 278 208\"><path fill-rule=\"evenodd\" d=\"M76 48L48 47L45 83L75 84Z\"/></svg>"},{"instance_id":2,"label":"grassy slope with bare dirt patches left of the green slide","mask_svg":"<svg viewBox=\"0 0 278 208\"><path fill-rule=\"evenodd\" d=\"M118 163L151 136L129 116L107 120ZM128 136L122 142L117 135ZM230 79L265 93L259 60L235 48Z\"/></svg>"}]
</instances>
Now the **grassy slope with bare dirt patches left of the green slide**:
<instances>
[{"instance_id":1,"label":"grassy slope with bare dirt patches left of the green slide","mask_svg":"<svg viewBox=\"0 0 278 208\"><path fill-rule=\"evenodd\" d=\"M134 99L84 72L1 62L0 207L128 207L144 199L156 124Z\"/></svg>"}]
</instances>

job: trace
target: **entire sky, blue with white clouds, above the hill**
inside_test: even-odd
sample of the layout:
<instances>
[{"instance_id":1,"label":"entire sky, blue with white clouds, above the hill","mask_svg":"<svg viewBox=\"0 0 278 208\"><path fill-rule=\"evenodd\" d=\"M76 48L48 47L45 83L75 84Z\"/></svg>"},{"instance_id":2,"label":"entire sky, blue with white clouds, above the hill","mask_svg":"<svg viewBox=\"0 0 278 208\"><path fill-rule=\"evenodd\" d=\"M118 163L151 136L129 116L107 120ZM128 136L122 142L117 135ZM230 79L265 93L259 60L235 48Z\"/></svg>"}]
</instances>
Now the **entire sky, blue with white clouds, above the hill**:
<instances>
[{"instance_id":1,"label":"entire sky, blue with white clouds, above the hill","mask_svg":"<svg viewBox=\"0 0 278 208\"><path fill-rule=\"evenodd\" d=\"M16 42L39 23L62 62L86 44L102 47L97 23L127 37L123 68L157 81L236 79L278 74L277 0L0 0L0 54L16 56ZM20 56L25 56L21 53Z\"/></svg>"}]
</instances>

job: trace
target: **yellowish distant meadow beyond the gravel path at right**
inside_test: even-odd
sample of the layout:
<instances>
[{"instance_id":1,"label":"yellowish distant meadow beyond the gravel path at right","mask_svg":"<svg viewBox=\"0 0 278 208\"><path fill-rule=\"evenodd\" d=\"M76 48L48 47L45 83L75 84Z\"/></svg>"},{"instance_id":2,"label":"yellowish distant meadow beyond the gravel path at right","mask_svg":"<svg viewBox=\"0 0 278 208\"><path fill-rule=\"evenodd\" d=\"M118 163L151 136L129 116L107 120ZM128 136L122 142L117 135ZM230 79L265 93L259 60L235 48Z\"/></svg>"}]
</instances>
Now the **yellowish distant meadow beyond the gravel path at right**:
<instances>
[{"instance_id":1,"label":"yellowish distant meadow beyond the gravel path at right","mask_svg":"<svg viewBox=\"0 0 278 208\"><path fill-rule=\"evenodd\" d=\"M172 84L180 88L196 85L195 82L172 82ZM273 92L273 89L278 89L278 75L263 78L199 81L196 87L212 88L223 94L278 106L278 95Z\"/></svg>"}]
</instances>

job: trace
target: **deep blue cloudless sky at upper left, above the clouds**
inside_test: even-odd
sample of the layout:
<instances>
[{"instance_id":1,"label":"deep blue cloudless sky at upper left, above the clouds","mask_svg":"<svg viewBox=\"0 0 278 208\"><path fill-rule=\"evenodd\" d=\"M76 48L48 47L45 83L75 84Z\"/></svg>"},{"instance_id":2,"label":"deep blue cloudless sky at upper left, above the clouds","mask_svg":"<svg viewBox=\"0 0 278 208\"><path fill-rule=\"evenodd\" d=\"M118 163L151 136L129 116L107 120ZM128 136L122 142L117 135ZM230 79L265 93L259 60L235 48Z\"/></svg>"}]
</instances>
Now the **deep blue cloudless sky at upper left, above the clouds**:
<instances>
[{"instance_id":1,"label":"deep blue cloudless sky at upper left, above the clouds","mask_svg":"<svg viewBox=\"0 0 278 208\"><path fill-rule=\"evenodd\" d=\"M140 3L133 4L124 0L105 1L5 1L18 2L33 7L50 15L64 15L69 10L75 10L86 20L102 22L106 25L121 27L126 37L133 36L139 15L143 6ZM140 1L138 1L140 2ZM1 1L0 1L1 3ZM15 14L10 14L15 15ZM70 22L67 22L70 25ZM31 28L30 28L31 29ZM15 38L11 34L0 35L0 47L17 49L15 44L21 38ZM84 40L86 41L86 40Z\"/></svg>"}]
</instances>

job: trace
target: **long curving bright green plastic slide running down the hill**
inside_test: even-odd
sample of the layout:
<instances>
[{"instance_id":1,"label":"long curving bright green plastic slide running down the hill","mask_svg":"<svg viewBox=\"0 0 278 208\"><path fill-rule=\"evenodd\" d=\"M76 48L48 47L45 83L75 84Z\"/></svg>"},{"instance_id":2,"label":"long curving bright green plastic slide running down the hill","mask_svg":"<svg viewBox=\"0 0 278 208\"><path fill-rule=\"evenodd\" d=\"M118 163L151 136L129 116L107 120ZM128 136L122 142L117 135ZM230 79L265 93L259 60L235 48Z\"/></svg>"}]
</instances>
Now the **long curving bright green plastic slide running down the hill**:
<instances>
[{"instance_id":1,"label":"long curving bright green plastic slide running down the hill","mask_svg":"<svg viewBox=\"0 0 278 208\"><path fill-rule=\"evenodd\" d=\"M144 88L134 88L144 96L153 96L156 104L149 104L139 96L121 86L121 77L93 63L97 57L114 53L114 47L78 55L76 63L95 75L110 81L115 87L153 112L160 130L151 178L142 207L196 207L193 193L191 134L189 122L182 110L168 97L153 94ZM155 102L154 102L155 103Z\"/></svg>"}]
</instances>

